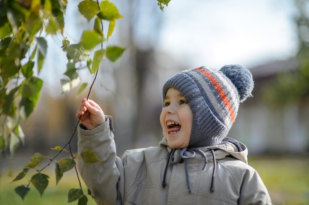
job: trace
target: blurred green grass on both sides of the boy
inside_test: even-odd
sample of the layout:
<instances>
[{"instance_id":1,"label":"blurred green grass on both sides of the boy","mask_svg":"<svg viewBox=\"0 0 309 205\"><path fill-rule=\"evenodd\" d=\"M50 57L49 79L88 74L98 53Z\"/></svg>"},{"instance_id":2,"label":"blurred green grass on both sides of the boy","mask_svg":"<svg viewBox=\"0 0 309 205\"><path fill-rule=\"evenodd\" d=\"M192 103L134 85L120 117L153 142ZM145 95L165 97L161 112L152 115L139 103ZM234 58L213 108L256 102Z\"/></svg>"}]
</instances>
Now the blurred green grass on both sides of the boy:
<instances>
[{"instance_id":1,"label":"blurred green grass on both sides of the boy","mask_svg":"<svg viewBox=\"0 0 309 205\"><path fill-rule=\"evenodd\" d=\"M29 159L29 158L28 158ZM27 159L27 160L28 160ZM18 163L25 165L26 163ZM309 205L309 157L250 157L249 165L255 168L269 190L274 205ZM7 176L5 170L0 176L0 205L77 205L77 201L68 203L68 192L78 188L77 176L73 170L64 174L58 185L55 185L53 168L44 174L49 178L49 185L42 197L33 185L24 201L14 192L14 188L27 184L32 176L28 173L24 179L11 181L22 171L22 166L13 169L13 176ZM87 192L82 182L84 193ZM96 205L88 196L88 205Z\"/></svg>"}]
</instances>

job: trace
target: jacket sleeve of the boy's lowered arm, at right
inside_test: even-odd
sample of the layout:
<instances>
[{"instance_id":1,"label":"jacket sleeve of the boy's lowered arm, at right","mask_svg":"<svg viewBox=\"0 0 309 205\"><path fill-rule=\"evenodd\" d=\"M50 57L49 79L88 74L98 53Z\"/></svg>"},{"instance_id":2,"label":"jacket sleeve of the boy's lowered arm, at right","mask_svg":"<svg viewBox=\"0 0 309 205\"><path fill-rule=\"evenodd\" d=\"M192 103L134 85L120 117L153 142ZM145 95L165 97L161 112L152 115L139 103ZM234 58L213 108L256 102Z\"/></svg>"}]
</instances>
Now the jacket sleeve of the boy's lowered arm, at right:
<instances>
[{"instance_id":1,"label":"jacket sleeve of the boy's lowered arm, at right","mask_svg":"<svg viewBox=\"0 0 309 205\"><path fill-rule=\"evenodd\" d=\"M253 168L244 173L238 205L272 205L264 182Z\"/></svg>"}]
</instances>

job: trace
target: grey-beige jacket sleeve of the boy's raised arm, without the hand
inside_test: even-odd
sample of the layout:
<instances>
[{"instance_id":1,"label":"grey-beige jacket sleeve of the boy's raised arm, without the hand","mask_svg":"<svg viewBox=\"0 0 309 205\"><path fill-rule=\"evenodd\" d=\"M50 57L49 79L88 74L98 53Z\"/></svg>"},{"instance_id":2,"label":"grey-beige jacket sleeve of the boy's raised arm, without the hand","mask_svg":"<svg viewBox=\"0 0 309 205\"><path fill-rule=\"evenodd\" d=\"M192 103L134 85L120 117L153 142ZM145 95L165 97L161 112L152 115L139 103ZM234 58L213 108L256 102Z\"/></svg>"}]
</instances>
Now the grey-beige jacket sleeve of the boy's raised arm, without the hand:
<instances>
[{"instance_id":1,"label":"grey-beige jacket sleeve of the boy's raised arm, without the hand","mask_svg":"<svg viewBox=\"0 0 309 205\"><path fill-rule=\"evenodd\" d=\"M78 126L77 167L98 205L122 205L123 165L116 156L112 119L92 130ZM80 153L91 148L102 161L85 163Z\"/></svg>"}]
</instances>

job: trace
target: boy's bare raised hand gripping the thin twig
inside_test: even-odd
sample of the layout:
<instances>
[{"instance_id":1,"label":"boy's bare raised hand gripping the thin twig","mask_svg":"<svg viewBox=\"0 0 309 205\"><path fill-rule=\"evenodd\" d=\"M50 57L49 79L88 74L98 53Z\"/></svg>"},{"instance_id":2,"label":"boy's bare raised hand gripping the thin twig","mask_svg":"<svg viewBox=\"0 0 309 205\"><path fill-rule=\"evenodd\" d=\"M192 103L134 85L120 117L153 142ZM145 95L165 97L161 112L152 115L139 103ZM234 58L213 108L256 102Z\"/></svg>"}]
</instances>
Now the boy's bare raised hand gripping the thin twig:
<instances>
[{"instance_id":1,"label":"boy's bare raised hand gripping the thin twig","mask_svg":"<svg viewBox=\"0 0 309 205\"><path fill-rule=\"evenodd\" d=\"M103 124L106 119L104 112L98 104L93 100L87 101L87 99L82 99L81 104L76 113L76 117L79 119L80 123L88 130L91 130L101 124Z\"/></svg>"}]
</instances>

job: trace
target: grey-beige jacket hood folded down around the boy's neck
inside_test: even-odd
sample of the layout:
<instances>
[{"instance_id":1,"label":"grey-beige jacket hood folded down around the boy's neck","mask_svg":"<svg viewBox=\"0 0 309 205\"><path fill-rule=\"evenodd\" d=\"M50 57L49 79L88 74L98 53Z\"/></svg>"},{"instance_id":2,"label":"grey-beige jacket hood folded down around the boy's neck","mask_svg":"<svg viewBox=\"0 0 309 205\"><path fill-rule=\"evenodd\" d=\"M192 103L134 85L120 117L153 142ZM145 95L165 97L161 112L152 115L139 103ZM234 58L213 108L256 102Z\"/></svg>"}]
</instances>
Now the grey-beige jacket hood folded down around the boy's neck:
<instances>
[{"instance_id":1,"label":"grey-beige jacket hood folded down around the boy's neck","mask_svg":"<svg viewBox=\"0 0 309 205\"><path fill-rule=\"evenodd\" d=\"M229 140L230 142L226 141ZM234 145L233 143L231 143L231 141L237 142L241 148L242 151L238 151L238 148L236 145ZM159 146L161 147L166 147L168 149L168 151L170 152L172 150L171 147L168 146L167 140L165 139L165 137L162 138L162 140L159 142ZM203 146L203 147L197 147L198 149L200 149L201 151L205 152L207 159L209 162L211 162L213 160L213 157L208 157L211 156L210 150L213 149L215 151L215 156L216 159L224 159L225 157L232 155L233 157L235 157L238 160L241 160L242 162L248 164L248 149L247 147L237 141L234 140L232 138L225 138L221 144L219 145L215 145L215 146Z\"/></svg>"}]
</instances>

